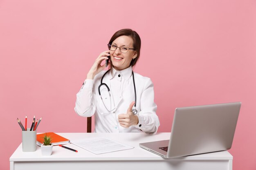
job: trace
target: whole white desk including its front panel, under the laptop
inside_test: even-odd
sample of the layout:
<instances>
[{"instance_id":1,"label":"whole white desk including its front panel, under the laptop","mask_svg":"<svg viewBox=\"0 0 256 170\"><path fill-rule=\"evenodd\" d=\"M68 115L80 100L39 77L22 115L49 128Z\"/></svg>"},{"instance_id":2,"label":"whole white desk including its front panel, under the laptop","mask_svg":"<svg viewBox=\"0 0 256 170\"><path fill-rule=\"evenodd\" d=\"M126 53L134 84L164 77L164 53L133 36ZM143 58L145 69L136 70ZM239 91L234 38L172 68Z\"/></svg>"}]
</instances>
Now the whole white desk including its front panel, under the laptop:
<instances>
[{"instance_id":1,"label":"whole white desk including its front panel, under the laptop","mask_svg":"<svg viewBox=\"0 0 256 170\"><path fill-rule=\"evenodd\" d=\"M10 170L232 170L233 157L228 151L164 159L139 147L139 143L166 140L170 133L58 133L67 139L106 137L135 148L101 155L54 146L51 156L42 156L40 147L35 152L22 152L22 144L10 157Z\"/></svg>"}]
</instances>

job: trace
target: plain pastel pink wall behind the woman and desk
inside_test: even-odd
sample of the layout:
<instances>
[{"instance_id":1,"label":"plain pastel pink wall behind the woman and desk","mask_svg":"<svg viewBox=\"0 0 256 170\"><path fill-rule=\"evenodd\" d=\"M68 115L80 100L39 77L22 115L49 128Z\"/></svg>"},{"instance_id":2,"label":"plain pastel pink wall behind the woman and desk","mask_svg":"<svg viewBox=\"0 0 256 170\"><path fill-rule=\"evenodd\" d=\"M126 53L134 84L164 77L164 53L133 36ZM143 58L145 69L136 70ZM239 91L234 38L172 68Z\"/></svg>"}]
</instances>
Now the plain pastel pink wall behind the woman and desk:
<instances>
[{"instance_id":1,"label":"plain pastel pink wall behind the woman and desk","mask_svg":"<svg viewBox=\"0 0 256 170\"><path fill-rule=\"evenodd\" d=\"M24 123L38 132L85 132L74 112L90 66L115 31L142 40L135 71L150 77L161 126L176 107L242 102L234 170L256 169L255 0L0 0L0 169L21 143Z\"/></svg>"}]
</instances>

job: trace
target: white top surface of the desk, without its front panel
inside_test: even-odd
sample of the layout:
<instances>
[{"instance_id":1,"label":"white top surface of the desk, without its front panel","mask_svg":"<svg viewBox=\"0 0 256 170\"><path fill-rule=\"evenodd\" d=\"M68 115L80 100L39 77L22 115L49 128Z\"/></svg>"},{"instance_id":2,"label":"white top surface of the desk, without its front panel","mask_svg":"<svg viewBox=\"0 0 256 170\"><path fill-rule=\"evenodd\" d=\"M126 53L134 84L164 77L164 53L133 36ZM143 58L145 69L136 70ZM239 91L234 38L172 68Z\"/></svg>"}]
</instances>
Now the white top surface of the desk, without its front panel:
<instances>
[{"instance_id":1,"label":"white top surface of the desk, without its front panel","mask_svg":"<svg viewBox=\"0 0 256 170\"><path fill-rule=\"evenodd\" d=\"M35 152L22 152L22 144L18 146L16 151L11 155L10 161L119 161L119 160L163 160L164 158L139 147L139 143L158 141L169 139L170 133L157 133L148 135L146 133L57 133L67 139L83 139L90 137L105 137L123 144L133 146L130 150L121 150L100 155L95 155L87 150L79 148L73 144L68 144L70 148L78 150L72 152L70 150L54 146L51 156L43 156L40 147L37 146ZM228 151L213 152L201 155L193 155L188 157L178 157L172 160L232 160L233 157Z\"/></svg>"}]
</instances>

